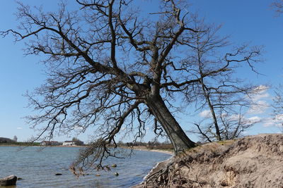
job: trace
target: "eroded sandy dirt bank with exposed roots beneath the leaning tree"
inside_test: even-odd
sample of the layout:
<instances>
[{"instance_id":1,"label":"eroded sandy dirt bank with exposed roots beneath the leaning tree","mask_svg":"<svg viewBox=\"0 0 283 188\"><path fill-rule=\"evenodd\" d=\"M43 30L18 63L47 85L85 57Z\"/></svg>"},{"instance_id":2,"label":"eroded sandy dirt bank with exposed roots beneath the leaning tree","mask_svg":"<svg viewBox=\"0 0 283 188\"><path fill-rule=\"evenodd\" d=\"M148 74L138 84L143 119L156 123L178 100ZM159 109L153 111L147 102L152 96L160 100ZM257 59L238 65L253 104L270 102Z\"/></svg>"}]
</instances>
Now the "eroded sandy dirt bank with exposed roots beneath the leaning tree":
<instances>
[{"instance_id":1,"label":"eroded sandy dirt bank with exposed roots beneath the leaning tree","mask_svg":"<svg viewBox=\"0 0 283 188\"><path fill-rule=\"evenodd\" d=\"M283 187L283 134L204 144L159 163L136 187Z\"/></svg>"}]
</instances>

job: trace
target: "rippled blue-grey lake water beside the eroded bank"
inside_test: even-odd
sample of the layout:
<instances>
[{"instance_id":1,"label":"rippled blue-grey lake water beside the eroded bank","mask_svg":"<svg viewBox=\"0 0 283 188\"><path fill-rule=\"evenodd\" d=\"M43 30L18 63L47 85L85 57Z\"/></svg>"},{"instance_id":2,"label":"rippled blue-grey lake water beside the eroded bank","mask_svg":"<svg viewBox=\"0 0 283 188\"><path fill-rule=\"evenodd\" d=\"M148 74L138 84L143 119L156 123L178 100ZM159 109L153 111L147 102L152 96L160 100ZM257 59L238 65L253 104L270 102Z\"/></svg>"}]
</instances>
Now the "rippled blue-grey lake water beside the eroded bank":
<instances>
[{"instance_id":1,"label":"rippled blue-grey lake water beside the eroded bank","mask_svg":"<svg viewBox=\"0 0 283 188\"><path fill-rule=\"evenodd\" d=\"M0 146L0 177L16 175L23 178L17 181L16 188L132 187L139 184L156 163L171 157L166 153L134 151L131 158L110 158L105 162L117 164L112 171L93 171L77 178L69 171L69 165L78 153L79 148L76 147L47 147L39 151L36 146L23 150L16 146Z\"/></svg>"}]
</instances>

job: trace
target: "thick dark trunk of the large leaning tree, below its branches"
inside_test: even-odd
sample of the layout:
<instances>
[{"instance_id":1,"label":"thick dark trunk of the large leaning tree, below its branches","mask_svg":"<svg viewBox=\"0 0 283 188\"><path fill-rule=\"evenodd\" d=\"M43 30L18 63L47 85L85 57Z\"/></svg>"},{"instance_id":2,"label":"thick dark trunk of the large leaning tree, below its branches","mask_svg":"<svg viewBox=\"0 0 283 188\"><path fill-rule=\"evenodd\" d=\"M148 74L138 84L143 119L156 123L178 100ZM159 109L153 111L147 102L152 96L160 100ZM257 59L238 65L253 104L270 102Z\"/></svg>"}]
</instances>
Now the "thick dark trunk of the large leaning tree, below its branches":
<instances>
[{"instance_id":1,"label":"thick dark trunk of the large leaning tree, below its branches","mask_svg":"<svg viewBox=\"0 0 283 188\"><path fill-rule=\"evenodd\" d=\"M146 104L167 133L174 146L175 154L195 146L195 142L192 142L187 137L172 113L168 110L161 96L150 96L146 100Z\"/></svg>"}]
</instances>

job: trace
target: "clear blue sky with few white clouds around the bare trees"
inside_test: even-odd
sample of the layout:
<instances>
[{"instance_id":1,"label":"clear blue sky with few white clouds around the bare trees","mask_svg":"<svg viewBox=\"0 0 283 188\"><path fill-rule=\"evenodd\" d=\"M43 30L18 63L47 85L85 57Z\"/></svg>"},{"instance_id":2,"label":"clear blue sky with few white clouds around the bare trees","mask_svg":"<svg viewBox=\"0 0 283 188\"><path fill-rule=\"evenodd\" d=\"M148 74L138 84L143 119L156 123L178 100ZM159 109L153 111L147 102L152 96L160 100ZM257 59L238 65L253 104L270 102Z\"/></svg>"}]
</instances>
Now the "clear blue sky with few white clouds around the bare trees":
<instances>
[{"instance_id":1,"label":"clear blue sky with few white clouds around the bare trees","mask_svg":"<svg viewBox=\"0 0 283 188\"><path fill-rule=\"evenodd\" d=\"M57 7L58 1L26 0L25 4L44 5L47 10ZM144 6L154 4L157 1L139 1ZM263 63L256 66L262 75L250 73L250 70L242 69L238 77L254 84L272 84L276 86L282 82L282 51L283 51L283 18L276 16L275 11L270 7L270 0L192 0L188 1L192 6L188 11L197 12L205 18L207 23L222 24L220 34L230 35L233 44L248 42L255 45L264 45L265 53L262 58ZM71 5L74 1L69 1ZM16 28L17 20L15 1L3 1L0 6L0 30ZM73 6L74 8L76 6ZM13 138L25 141L35 134L25 123L23 117L32 113L27 106L27 100L23 96L25 91L32 91L33 88L42 84L45 80L44 67L38 63L38 56L23 56L23 42L13 43L13 37L0 38L0 137ZM270 103L272 99L272 89L265 90L258 101ZM259 111L258 111L259 112ZM262 132L279 132L279 128L272 122L270 108L266 108L262 113L250 113L248 118L258 117L264 121L255 125L247 134L258 134ZM268 122L267 122L268 121ZM182 123L191 122L183 120ZM79 135L79 139L88 140L88 134ZM70 135L71 137L73 135ZM150 140L152 134L146 137ZM67 136L57 137L63 141L69 139ZM192 136L196 140L196 137Z\"/></svg>"}]
</instances>

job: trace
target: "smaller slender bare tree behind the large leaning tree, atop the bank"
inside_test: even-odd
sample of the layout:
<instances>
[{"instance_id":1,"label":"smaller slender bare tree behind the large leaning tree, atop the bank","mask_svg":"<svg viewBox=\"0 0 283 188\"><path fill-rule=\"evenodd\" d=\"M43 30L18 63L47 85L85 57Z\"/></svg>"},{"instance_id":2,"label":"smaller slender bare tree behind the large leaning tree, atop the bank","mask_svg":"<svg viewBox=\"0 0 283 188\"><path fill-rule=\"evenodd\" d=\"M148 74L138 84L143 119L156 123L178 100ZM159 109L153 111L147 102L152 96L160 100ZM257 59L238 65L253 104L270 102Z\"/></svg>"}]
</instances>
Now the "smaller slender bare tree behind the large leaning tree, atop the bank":
<instances>
[{"instance_id":1,"label":"smaller slender bare tree behind the large leaning tree, atop the bank","mask_svg":"<svg viewBox=\"0 0 283 188\"><path fill-rule=\"evenodd\" d=\"M187 98L190 100L192 94L195 94L197 110L208 108L210 115L209 120L206 117L206 120L194 123L196 129L191 132L200 134L200 137L208 142L233 139L248 127L258 123L244 120L241 109L254 105L250 96L260 92L260 87L243 84L243 80L236 78L234 73L244 62L257 73L253 63L260 61L260 47L250 50L246 45L242 45L237 47L233 54L221 53L229 46L229 42L228 37L217 35L220 26L204 25L203 20L197 18L194 23L197 23L194 30L205 32L195 32L190 36L187 66L200 77L200 82L194 85L194 91L190 92Z\"/></svg>"}]
</instances>

